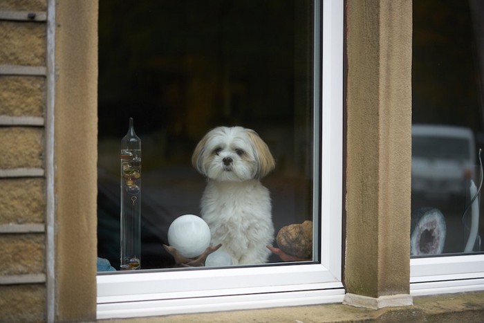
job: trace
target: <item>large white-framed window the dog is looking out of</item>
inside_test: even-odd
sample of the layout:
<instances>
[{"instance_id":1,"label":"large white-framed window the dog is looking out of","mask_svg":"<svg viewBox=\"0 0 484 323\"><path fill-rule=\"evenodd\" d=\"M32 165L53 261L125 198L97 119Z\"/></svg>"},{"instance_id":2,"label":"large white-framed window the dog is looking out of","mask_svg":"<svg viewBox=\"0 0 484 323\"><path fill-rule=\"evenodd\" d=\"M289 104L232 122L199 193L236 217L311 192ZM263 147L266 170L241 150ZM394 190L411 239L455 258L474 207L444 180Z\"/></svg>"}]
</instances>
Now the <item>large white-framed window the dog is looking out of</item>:
<instances>
[{"instance_id":1,"label":"large white-framed window the dog is looking out of","mask_svg":"<svg viewBox=\"0 0 484 323\"><path fill-rule=\"evenodd\" d=\"M98 253L118 267L130 116L142 140L145 253L141 270L97 276L99 318L342 301L342 50L342 1L100 3ZM171 221L199 214L205 181L189 160L219 124L266 140L275 233L313 221L312 259L174 268L163 254Z\"/></svg>"}]
</instances>

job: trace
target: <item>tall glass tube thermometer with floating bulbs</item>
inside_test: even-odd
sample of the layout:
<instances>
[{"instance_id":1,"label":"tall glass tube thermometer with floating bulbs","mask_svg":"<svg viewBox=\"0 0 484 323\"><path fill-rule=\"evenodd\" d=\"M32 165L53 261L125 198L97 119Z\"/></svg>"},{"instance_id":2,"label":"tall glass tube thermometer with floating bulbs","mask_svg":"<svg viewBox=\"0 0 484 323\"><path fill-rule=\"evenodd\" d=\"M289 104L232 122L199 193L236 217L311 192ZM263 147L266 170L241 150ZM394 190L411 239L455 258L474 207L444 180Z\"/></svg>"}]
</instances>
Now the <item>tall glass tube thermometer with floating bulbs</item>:
<instances>
[{"instance_id":1,"label":"tall glass tube thermometer with floating bulbs","mask_svg":"<svg viewBox=\"0 0 484 323\"><path fill-rule=\"evenodd\" d=\"M141 222L141 140L129 118L121 140L121 270L139 269Z\"/></svg>"}]
</instances>

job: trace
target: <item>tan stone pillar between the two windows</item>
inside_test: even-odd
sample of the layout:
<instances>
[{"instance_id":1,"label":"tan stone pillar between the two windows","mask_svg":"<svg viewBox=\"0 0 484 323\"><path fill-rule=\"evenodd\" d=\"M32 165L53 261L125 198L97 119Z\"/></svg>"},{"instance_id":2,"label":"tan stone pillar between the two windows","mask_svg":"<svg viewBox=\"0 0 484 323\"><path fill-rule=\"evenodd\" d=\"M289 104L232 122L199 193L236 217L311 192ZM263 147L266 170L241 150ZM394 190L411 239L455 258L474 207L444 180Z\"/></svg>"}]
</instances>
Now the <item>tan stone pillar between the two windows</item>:
<instances>
[{"instance_id":1,"label":"tan stone pillar between the two windows","mask_svg":"<svg viewBox=\"0 0 484 323\"><path fill-rule=\"evenodd\" d=\"M344 283L385 304L409 294L412 8L347 4Z\"/></svg>"}]
</instances>

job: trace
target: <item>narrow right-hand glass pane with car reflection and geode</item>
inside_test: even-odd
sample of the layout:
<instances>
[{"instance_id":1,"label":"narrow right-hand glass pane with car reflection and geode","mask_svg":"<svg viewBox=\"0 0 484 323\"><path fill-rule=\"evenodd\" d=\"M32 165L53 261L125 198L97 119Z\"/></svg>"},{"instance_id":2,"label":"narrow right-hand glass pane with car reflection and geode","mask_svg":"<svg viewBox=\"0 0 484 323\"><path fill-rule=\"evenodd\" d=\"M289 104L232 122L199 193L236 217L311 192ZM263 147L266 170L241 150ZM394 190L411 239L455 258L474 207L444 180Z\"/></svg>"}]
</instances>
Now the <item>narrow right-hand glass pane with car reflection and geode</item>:
<instances>
[{"instance_id":1,"label":"narrow right-hand glass pane with car reflection and geode","mask_svg":"<svg viewBox=\"0 0 484 323\"><path fill-rule=\"evenodd\" d=\"M484 3L413 3L411 255L482 252Z\"/></svg>"}]
</instances>

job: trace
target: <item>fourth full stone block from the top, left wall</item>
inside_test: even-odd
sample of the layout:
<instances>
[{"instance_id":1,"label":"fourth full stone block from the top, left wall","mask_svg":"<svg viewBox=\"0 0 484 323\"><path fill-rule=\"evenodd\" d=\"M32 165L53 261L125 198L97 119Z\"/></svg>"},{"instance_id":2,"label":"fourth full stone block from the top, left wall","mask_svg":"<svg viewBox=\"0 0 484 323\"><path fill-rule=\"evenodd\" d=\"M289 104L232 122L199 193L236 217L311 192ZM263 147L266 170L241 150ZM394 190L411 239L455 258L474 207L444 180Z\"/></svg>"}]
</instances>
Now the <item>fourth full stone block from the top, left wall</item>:
<instances>
[{"instance_id":1,"label":"fourth full stone block from the top, left wall","mask_svg":"<svg viewBox=\"0 0 484 323\"><path fill-rule=\"evenodd\" d=\"M44 178L2 178L0 224L44 223Z\"/></svg>"}]
</instances>

